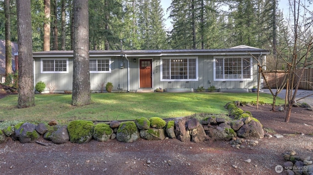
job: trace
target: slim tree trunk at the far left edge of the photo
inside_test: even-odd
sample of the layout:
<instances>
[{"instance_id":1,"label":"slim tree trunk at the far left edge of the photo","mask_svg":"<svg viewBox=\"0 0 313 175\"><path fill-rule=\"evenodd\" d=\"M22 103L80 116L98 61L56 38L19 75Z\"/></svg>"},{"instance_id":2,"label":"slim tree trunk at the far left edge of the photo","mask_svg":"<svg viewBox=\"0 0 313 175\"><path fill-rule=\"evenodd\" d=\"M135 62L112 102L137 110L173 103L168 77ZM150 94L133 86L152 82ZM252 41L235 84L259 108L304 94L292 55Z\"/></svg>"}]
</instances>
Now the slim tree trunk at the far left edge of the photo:
<instances>
[{"instance_id":1,"label":"slim tree trunk at the far left edge of the photo","mask_svg":"<svg viewBox=\"0 0 313 175\"><path fill-rule=\"evenodd\" d=\"M5 84L12 84L12 48L11 48L11 18L10 18L10 0L4 2L5 13ZM11 82L9 82L11 81Z\"/></svg>"}]
</instances>

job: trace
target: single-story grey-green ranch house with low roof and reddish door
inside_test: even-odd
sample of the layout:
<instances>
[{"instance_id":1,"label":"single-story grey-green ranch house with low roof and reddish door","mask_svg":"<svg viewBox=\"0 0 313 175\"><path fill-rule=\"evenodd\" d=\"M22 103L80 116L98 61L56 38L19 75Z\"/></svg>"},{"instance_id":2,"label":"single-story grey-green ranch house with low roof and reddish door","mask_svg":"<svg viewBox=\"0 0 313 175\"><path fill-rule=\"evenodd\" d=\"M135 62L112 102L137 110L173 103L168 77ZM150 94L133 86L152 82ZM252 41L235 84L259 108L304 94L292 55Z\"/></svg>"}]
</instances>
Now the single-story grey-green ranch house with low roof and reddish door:
<instances>
[{"instance_id":1,"label":"single-story grey-green ranch house with low roof and reddish door","mask_svg":"<svg viewBox=\"0 0 313 175\"><path fill-rule=\"evenodd\" d=\"M257 63L265 62L268 54L268 50L245 45L207 50L89 51L90 89L100 92L112 82L113 91L127 92L196 90L201 86L247 90L257 86ZM55 93L72 90L73 51L34 52L33 57L35 83L53 84Z\"/></svg>"}]
</instances>

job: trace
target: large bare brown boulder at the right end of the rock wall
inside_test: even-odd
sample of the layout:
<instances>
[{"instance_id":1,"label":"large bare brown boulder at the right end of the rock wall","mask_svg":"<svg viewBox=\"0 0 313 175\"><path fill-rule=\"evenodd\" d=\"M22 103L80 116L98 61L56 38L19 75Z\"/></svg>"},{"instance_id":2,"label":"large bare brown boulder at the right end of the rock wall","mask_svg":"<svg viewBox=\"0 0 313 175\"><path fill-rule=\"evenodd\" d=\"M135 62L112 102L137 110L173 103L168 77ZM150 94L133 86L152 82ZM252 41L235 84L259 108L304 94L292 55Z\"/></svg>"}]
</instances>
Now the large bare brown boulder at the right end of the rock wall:
<instances>
[{"instance_id":1,"label":"large bare brown boulder at the right end of the rock wall","mask_svg":"<svg viewBox=\"0 0 313 175\"><path fill-rule=\"evenodd\" d=\"M263 138L264 130L262 124L258 121L251 120L237 131L237 136L243 138Z\"/></svg>"}]
</instances>

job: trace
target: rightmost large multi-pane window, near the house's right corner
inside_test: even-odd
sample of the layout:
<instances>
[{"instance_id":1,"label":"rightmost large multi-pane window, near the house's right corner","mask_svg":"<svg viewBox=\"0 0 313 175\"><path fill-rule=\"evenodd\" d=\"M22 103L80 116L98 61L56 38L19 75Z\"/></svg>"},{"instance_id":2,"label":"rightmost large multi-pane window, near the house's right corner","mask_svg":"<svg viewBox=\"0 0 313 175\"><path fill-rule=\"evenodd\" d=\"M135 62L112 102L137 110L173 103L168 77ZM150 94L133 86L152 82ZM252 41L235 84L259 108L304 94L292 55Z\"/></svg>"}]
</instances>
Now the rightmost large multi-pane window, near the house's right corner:
<instances>
[{"instance_id":1,"label":"rightmost large multi-pane window, near the house's right corner","mask_svg":"<svg viewBox=\"0 0 313 175\"><path fill-rule=\"evenodd\" d=\"M250 57L216 57L214 80L250 80L251 63Z\"/></svg>"}]
</instances>

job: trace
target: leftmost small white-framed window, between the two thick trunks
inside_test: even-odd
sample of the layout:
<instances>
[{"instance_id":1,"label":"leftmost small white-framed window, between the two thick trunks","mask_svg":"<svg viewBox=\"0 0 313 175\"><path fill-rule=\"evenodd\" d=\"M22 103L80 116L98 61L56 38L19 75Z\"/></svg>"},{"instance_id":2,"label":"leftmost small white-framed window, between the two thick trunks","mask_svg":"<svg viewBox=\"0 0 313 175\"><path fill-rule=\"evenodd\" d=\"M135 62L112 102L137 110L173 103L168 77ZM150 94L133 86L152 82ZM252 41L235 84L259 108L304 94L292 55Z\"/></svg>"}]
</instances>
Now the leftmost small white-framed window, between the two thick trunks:
<instances>
[{"instance_id":1,"label":"leftmost small white-framed window, between the two thick trunks","mask_svg":"<svg viewBox=\"0 0 313 175\"><path fill-rule=\"evenodd\" d=\"M41 73L68 73L68 59L42 58Z\"/></svg>"}]
</instances>

